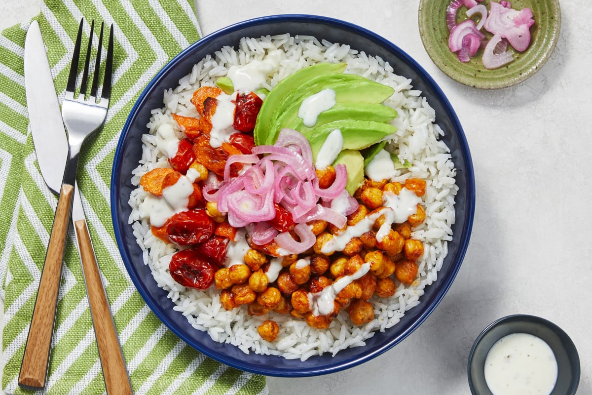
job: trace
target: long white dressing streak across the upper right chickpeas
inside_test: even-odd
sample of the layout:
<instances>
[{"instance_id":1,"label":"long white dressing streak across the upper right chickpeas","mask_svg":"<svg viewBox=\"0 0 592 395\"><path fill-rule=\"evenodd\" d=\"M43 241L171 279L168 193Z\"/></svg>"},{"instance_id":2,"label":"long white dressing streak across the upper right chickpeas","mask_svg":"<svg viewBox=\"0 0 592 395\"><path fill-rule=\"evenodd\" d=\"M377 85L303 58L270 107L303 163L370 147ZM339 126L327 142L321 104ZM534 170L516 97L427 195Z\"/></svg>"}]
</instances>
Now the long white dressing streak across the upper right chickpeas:
<instances>
[{"instance_id":1,"label":"long white dressing streak across the upper right chickpeas","mask_svg":"<svg viewBox=\"0 0 592 395\"><path fill-rule=\"evenodd\" d=\"M407 188L402 188L399 193L401 194L401 192L403 194L402 197L397 199L389 198L388 196L385 197L384 195L390 194L391 192L384 192L382 204L385 208L375 211L372 214L368 214L355 225L346 227L346 229L339 235L334 235L332 239L324 243L323 247L321 247L321 252L327 254L335 251L343 251L353 237L360 237L371 230L376 220L384 215L384 223L379 227L378 232L376 233L377 241L381 242L382 238L386 236L391 229L392 224L403 223L407 220L408 216L417 212L417 203L419 203L421 199L417 197L414 192L407 190ZM392 195L397 196L395 194Z\"/></svg>"}]
</instances>

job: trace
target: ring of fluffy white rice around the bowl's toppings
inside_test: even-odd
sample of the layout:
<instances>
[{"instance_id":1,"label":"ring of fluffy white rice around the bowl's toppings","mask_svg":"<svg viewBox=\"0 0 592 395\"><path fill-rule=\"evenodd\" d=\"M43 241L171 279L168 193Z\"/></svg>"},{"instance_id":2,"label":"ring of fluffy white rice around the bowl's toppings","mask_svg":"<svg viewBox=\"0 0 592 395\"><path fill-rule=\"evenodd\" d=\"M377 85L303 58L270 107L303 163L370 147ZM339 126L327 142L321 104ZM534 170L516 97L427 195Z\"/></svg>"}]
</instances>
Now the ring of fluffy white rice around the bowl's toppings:
<instances>
[{"instance_id":1,"label":"ring of fluffy white rice around the bowl's toppings","mask_svg":"<svg viewBox=\"0 0 592 395\"><path fill-rule=\"evenodd\" d=\"M268 50L274 49L282 50L285 56L281 68L269 78L268 89L296 70L317 62L347 62L346 73L362 75L395 89L392 97L385 102L398 112L398 117L392 121L398 131L390 145L401 160L412 163L411 168L403 169L395 181L411 177L427 181L423 196L426 221L412 233L414 239L424 243L424 255L417 262L417 280L410 286L398 285L396 293L390 298L374 296L371 301L375 319L363 326L353 325L346 309L342 309L326 330L315 329L304 320L274 311L265 316L249 316L246 306L226 311L220 304L219 291L214 287L199 291L182 287L172 280L168 272L169 261L177 250L172 244L153 236L147 219L140 218L139 205L147 196L142 187L131 194L129 204L133 210L129 221L133 223L134 235L143 250L144 263L152 270L157 285L168 292L168 297L176 304L175 310L184 314L195 329L208 332L214 341L236 345L246 354L273 354L304 361L313 355L335 355L348 347L363 346L365 339L371 338L375 331L384 332L396 325L405 311L420 303L424 288L437 280L437 272L448 252L447 242L452 240L458 187L449 149L439 140L444 132L434 123L435 111L421 92L413 89L410 79L392 73L392 67L380 57L368 56L347 45L289 34L242 38L237 49L223 47L214 57L206 56L179 81L178 87L165 91L165 106L152 111L152 118L147 124L149 133L142 138L142 158L133 171L133 184L138 185L141 175L150 169L168 167L166 158L155 147L154 134L162 123L169 123L179 130L172 113L198 117L197 110L189 101L195 89L202 85L215 85L215 80L225 76L230 66L261 60ZM178 133L182 135L181 131ZM257 331L266 319L275 320L280 327L278 339L274 342L263 340Z\"/></svg>"}]
</instances>

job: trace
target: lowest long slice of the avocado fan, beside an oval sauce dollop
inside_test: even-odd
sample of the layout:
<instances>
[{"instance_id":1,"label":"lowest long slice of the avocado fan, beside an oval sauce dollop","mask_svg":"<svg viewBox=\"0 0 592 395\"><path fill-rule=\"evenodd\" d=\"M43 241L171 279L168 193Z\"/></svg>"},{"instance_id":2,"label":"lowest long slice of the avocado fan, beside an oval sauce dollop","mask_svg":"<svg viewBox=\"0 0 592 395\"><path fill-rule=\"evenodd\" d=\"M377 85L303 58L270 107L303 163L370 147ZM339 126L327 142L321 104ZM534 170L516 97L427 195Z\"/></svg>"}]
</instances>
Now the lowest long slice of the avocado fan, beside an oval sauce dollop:
<instances>
[{"instance_id":1,"label":"lowest long slice of the avocado fan, beside an oval sauce dollop","mask_svg":"<svg viewBox=\"0 0 592 395\"><path fill-rule=\"evenodd\" d=\"M339 129L343 136L342 149L361 150L381 142L397 131L396 126L374 121L340 120L323 124L308 133L303 133L310 142L313 159L317 159L318 150L333 130ZM362 154L360 154L362 155ZM362 157L363 158L363 157ZM362 159L363 166L363 159Z\"/></svg>"}]
</instances>

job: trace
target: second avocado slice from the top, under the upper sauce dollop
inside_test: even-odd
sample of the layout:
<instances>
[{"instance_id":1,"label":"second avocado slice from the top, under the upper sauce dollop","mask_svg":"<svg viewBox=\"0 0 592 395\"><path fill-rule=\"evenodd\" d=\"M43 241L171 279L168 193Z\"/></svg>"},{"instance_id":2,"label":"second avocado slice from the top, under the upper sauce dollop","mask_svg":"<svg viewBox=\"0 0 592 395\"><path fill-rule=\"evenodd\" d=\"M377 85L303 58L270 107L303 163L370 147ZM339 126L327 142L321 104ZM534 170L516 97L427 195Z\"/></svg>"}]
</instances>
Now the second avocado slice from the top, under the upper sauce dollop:
<instances>
[{"instance_id":1,"label":"second avocado slice from the top, under the upper sauce dollop","mask_svg":"<svg viewBox=\"0 0 592 395\"><path fill-rule=\"evenodd\" d=\"M288 127L288 125L298 121L298 110L300 110L304 99L323 89L333 89L336 103L379 104L389 98L394 92L394 89L390 86L382 85L379 82L371 81L355 74L318 76L308 84L303 84L292 90L278 105L269 126L267 144L274 144L282 128ZM391 110L386 111L391 113ZM350 117L347 112L341 114L340 119L348 118ZM389 120L392 118L394 116ZM372 119L370 118L368 120Z\"/></svg>"}]
</instances>

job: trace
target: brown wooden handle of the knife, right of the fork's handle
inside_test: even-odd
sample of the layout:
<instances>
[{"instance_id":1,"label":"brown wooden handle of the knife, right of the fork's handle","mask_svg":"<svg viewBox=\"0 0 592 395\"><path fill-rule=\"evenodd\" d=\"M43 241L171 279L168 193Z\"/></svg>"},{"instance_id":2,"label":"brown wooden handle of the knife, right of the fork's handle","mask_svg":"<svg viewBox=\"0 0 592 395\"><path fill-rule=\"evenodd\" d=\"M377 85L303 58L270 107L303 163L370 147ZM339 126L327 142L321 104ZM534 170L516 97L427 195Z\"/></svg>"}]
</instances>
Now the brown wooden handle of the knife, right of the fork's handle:
<instances>
[{"instance_id":1,"label":"brown wooden handle of the knife, right of the fork's handle","mask_svg":"<svg viewBox=\"0 0 592 395\"><path fill-rule=\"evenodd\" d=\"M107 394L131 395L133 391L126 370L126 362L121 354L121 346L86 221L83 219L75 221L74 226L76 237L78 237L86 293L91 306L92 323L95 327L96 345L99 349Z\"/></svg>"}]
</instances>

